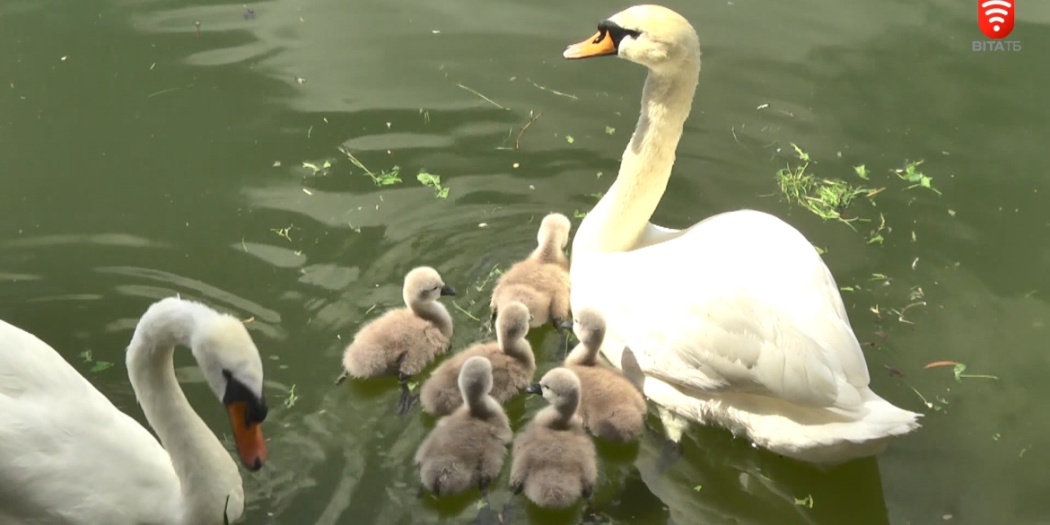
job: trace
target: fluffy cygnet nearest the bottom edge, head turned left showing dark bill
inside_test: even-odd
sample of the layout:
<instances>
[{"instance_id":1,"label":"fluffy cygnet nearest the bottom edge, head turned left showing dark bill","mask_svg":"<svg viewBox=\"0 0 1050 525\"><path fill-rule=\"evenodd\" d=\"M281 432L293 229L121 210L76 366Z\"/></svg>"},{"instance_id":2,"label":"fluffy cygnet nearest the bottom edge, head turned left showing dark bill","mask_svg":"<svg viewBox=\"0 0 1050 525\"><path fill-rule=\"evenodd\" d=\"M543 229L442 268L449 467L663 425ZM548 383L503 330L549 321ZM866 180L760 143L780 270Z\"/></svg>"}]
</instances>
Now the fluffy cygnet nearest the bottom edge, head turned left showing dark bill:
<instances>
[{"instance_id":1,"label":"fluffy cygnet nearest the bottom edge, head turned left showing dark bill","mask_svg":"<svg viewBox=\"0 0 1050 525\"><path fill-rule=\"evenodd\" d=\"M594 443L576 415L580 379L568 369L554 369L529 392L550 405L514 439L510 486L545 508L565 508L580 498L589 503L597 464Z\"/></svg>"}]
</instances>

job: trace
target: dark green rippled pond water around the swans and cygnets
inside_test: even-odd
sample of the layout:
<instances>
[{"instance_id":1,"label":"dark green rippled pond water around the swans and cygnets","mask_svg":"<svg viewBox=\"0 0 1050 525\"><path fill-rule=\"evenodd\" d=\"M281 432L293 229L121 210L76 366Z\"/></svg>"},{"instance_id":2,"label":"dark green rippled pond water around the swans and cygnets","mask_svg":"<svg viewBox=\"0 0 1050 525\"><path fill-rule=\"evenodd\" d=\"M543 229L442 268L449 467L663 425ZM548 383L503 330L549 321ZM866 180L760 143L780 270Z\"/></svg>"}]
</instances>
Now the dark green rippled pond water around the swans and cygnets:
<instances>
[{"instance_id":1,"label":"dark green rippled pond water around the swans and cygnets","mask_svg":"<svg viewBox=\"0 0 1050 525\"><path fill-rule=\"evenodd\" d=\"M1020 52L974 52L983 37L966 2L668 5L696 24L705 55L654 220L685 227L743 207L788 219L855 287L843 296L874 343L875 390L927 416L877 459L831 471L712 428L693 428L663 475L656 441L603 448L606 522L1050 523L1050 7L1021 6ZM408 269L435 266L458 306L483 316L494 265L531 249L543 214L584 212L608 187L645 71L561 51L626 6L282 0L246 18L240 2L4 0L0 316L140 420L123 350L151 301L181 293L254 317L273 410L270 462L244 475L245 523L468 523L469 497L416 499L412 456L433 421L391 416L393 380L331 381L360 323L400 300ZM530 112L542 116L517 149ZM819 175L886 187L857 210L875 223L855 232L780 198L790 143ZM398 166L403 183L377 187L340 145L373 171ZM906 160L925 160L943 194L904 190L889 170ZM416 181L423 169L447 198ZM867 244L879 212L885 240ZM912 302L924 303L910 322L890 313ZM459 348L477 323L453 310ZM541 372L553 366L556 336L530 338ZM117 365L90 372L86 350ZM1000 379L923 368L939 360ZM230 441L188 356L178 364ZM516 427L542 404L512 402ZM510 499L505 478L497 504ZM514 501L510 523L579 521Z\"/></svg>"}]
</instances>

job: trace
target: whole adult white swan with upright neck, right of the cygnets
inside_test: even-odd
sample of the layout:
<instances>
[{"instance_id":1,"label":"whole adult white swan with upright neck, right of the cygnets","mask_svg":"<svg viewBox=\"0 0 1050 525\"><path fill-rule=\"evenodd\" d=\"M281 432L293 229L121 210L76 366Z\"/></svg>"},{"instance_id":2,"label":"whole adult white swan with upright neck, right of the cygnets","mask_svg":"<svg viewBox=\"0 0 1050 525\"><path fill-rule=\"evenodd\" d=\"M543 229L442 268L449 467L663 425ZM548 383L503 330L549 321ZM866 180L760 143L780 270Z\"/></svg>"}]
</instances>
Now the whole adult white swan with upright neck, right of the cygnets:
<instances>
[{"instance_id":1,"label":"whole adult white swan with upright neck, right of the cygnets","mask_svg":"<svg viewBox=\"0 0 1050 525\"><path fill-rule=\"evenodd\" d=\"M677 13L627 8L564 54L649 68L642 114L616 181L572 243L573 312L608 323L603 354L625 345L677 442L687 420L715 423L777 454L839 463L878 454L919 426L868 388L867 364L835 279L813 246L753 210L686 230L649 223L692 107L699 39Z\"/></svg>"}]
</instances>

